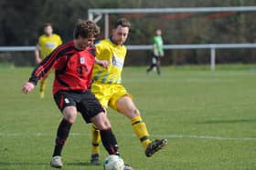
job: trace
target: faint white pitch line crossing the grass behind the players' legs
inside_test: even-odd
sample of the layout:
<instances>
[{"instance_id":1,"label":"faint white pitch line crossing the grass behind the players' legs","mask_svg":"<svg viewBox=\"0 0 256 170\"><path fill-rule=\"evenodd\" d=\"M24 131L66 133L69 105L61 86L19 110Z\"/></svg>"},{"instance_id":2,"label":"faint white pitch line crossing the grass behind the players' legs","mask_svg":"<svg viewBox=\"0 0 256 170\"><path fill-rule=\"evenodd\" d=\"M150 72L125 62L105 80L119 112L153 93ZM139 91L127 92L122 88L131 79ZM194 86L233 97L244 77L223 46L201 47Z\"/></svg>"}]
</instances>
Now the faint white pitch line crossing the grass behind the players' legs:
<instances>
[{"instance_id":1,"label":"faint white pitch line crossing the grass behind the players' legs","mask_svg":"<svg viewBox=\"0 0 256 170\"><path fill-rule=\"evenodd\" d=\"M70 133L70 136L90 136L88 134L81 134L81 133ZM8 137L8 136L55 136L55 134L45 134L45 133L35 133L35 134L28 134L28 133L2 133L0 132L0 137ZM134 135L122 135L117 134L117 136L124 136L124 137L132 137ZM151 135L152 137L158 138L184 138L184 139L204 139L204 140L232 140L232 141L256 141L256 137L226 137L226 136L212 136L212 135Z\"/></svg>"}]
</instances>

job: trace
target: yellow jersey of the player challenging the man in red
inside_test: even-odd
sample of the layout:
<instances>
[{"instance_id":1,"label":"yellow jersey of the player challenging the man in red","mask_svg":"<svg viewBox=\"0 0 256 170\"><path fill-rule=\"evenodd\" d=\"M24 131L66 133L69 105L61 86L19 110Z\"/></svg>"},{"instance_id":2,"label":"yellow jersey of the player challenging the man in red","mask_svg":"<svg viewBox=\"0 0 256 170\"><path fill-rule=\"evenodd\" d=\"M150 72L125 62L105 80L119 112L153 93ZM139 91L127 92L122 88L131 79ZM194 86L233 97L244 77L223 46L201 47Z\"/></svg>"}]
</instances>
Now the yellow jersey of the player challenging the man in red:
<instances>
[{"instance_id":1,"label":"yellow jersey of the player challenging the man in red","mask_svg":"<svg viewBox=\"0 0 256 170\"><path fill-rule=\"evenodd\" d=\"M127 49L124 45L115 45L111 39L101 40L96 44L96 57L109 61L108 68L94 64L92 72L93 82L103 84L121 84L123 64Z\"/></svg>"}]
</instances>

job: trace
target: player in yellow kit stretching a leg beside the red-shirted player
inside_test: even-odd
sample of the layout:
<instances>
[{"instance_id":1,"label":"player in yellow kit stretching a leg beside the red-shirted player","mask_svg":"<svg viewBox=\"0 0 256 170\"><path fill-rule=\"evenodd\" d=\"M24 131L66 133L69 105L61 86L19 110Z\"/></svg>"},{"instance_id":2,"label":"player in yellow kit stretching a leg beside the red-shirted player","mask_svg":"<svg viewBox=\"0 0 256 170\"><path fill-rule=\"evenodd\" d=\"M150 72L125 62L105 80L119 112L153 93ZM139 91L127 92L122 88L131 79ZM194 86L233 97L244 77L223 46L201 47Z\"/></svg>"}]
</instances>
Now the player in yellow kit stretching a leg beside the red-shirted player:
<instances>
[{"instance_id":1,"label":"player in yellow kit stretching a leg beside the red-shirted player","mask_svg":"<svg viewBox=\"0 0 256 170\"><path fill-rule=\"evenodd\" d=\"M123 45L129 34L131 24L122 18L116 21L112 29L112 37L101 40L96 44L96 57L99 60L107 60L108 68L94 65L91 85L91 92L98 98L105 109L111 106L113 109L125 115L131 120L133 132L140 139L144 153L150 157L156 151L162 149L166 139L151 141L146 125L144 124L139 110L133 104L132 95L128 94L122 83L123 63L126 55L126 47ZM100 164L101 142L100 131L95 125L91 128L92 148L91 164Z\"/></svg>"}]
</instances>

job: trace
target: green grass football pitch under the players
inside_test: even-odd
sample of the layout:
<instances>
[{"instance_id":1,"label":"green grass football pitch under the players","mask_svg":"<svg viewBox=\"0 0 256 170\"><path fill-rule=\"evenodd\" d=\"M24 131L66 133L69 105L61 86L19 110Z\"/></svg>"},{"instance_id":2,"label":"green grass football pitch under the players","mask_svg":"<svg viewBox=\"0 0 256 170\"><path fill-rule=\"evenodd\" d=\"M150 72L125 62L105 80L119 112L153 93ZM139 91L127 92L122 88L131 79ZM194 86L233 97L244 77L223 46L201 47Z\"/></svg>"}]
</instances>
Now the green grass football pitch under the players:
<instances>
[{"instance_id":1,"label":"green grass football pitch under the players","mask_svg":"<svg viewBox=\"0 0 256 170\"><path fill-rule=\"evenodd\" d=\"M110 110L123 159L135 170L256 169L256 65L163 67L161 76L145 67L125 67L123 85L133 94L152 138L168 139L147 158L129 120ZM44 99L38 86L21 93L32 68L0 68L0 169L49 167L61 114L48 81ZM91 166L91 125L78 117L63 151L64 170ZM107 156L101 146L101 159Z\"/></svg>"}]
</instances>

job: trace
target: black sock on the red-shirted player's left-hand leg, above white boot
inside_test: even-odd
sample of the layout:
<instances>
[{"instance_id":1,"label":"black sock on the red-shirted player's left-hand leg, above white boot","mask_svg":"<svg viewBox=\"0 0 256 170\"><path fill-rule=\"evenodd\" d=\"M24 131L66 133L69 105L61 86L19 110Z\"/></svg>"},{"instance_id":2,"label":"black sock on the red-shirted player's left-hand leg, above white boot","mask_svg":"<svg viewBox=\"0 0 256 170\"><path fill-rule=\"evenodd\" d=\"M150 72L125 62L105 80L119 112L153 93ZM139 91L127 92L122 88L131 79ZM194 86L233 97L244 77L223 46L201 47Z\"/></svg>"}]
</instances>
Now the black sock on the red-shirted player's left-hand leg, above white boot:
<instances>
[{"instance_id":1,"label":"black sock on the red-shirted player's left-hand leg, above white boot","mask_svg":"<svg viewBox=\"0 0 256 170\"><path fill-rule=\"evenodd\" d=\"M55 155L61 155L62 147L65 145L66 140L69 137L69 131L71 128L71 123L69 121L65 120L64 118L59 124L59 128L57 131L57 137L55 140L55 147L54 147L54 152L52 156Z\"/></svg>"}]
</instances>

